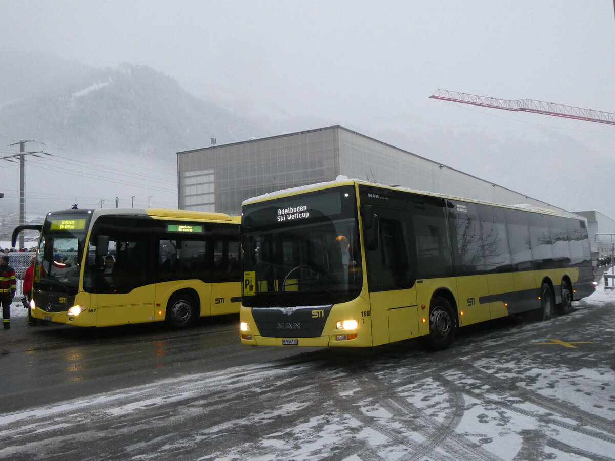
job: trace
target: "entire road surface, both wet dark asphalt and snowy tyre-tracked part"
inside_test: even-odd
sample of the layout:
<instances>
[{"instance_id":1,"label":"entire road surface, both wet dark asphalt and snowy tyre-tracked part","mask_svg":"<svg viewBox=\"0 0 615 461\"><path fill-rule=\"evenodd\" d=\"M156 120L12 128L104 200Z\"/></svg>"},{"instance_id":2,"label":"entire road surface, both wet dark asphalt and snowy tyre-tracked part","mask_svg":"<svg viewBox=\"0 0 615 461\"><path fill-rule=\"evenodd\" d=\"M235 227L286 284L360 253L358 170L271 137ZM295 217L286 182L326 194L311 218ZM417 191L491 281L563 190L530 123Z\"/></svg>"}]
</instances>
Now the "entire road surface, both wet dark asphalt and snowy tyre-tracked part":
<instances>
[{"instance_id":1,"label":"entire road surface, both wet dark asphalt and snowy tyre-tracked part","mask_svg":"<svg viewBox=\"0 0 615 461\"><path fill-rule=\"evenodd\" d=\"M0 331L0 459L615 459L615 303L451 349L245 347L237 316Z\"/></svg>"}]
</instances>

